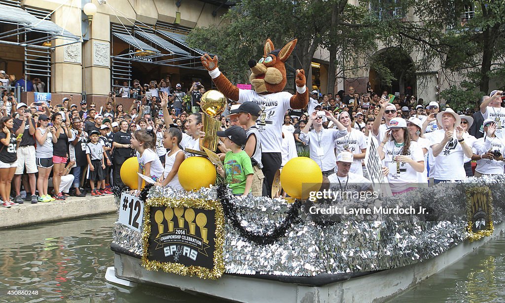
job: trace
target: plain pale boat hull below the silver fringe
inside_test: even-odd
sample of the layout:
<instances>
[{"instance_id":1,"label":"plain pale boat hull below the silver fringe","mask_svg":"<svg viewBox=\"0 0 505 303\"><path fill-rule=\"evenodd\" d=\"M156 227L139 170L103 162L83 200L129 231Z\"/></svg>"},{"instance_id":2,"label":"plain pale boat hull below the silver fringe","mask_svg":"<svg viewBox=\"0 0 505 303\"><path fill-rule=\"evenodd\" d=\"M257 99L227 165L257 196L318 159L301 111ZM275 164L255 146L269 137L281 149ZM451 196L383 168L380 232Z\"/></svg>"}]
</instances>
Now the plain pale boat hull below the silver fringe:
<instances>
[{"instance_id":1,"label":"plain pale boat hull below the silver fringe","mask_svg":"<svg viewBox=\"0 0 505 303\"><path fill-rule=\"evenodd\" d=\"M140 259L117 253L116 276L137 283L177 287L239 302L381 302L419 283L457 262L505 230L505 223L494 226L494 233L478 241L465 241L432 259L413 265L353 277L322 286L285 283L244 275L223 275L218 280L186 277L162 271L147 271Z\"/></svg>"}]
</instances>

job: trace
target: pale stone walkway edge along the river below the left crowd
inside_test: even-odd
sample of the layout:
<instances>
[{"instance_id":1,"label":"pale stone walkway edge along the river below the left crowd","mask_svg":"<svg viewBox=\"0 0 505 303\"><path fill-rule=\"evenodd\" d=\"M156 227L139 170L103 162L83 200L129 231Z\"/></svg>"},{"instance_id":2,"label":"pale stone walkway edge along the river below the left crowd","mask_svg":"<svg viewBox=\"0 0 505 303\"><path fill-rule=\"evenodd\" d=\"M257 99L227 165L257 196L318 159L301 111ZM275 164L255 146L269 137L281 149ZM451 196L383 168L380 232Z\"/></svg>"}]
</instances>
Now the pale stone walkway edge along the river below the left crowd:
<instances>
[{"instance_id":1,"label":"pale stone walkway edge along the river below the left crowd","mask_svg":"<svg viewBox=\"0 0 505 303\"><path fill-rule=\"evenodd\" d=\"M37 223L60 221L73 218L90 217L117 211L114 195L102 197L68 197L65 201L30 201L0 209L0 228L27 226Z\"/></svg>"}]
</instances>

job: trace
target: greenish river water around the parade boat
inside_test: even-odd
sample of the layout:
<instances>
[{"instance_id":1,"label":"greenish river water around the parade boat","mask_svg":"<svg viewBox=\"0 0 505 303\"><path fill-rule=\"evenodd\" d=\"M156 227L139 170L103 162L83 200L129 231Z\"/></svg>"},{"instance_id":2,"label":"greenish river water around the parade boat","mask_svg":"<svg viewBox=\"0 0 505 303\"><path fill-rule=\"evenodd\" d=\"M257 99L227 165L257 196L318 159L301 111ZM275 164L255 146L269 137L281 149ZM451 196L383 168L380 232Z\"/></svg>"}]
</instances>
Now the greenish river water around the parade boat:
<instances>
[{"instance_id":1,"label":"greenish river water around the parade boat","mask_svg":"<svg viewBox=\"0 0 505 303\"><path fill-rule=\"evenodd\" d=\"M2 231L0 302L220 301L176 289L109 284L105 272L113 266L116 219L114 214ZM505 237L500 237L389 302L504 302L504 259Z\"/></svg>"}]
</instances>

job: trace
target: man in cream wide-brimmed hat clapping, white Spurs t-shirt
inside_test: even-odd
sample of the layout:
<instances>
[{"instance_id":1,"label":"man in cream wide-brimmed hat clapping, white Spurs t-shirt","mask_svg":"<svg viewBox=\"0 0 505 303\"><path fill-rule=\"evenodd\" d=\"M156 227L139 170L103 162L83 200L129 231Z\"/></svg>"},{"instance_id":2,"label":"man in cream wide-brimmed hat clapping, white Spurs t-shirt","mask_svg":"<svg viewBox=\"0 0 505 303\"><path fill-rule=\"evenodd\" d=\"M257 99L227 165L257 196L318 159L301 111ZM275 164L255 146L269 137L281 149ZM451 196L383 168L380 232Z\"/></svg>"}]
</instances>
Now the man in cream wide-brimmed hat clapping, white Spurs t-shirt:
<instances>
[{"instance_id":1,"label":"man in cream wide-brimmed hat clapping, white Spurs t-shirt","mask_svg":"<svg viewBox=\"0 0 505 303\"><path fill-rule=\"evenodd\" d=\"M464 130L460 126L461 117L451 108L437 114L437 122L442 127L431 134L431 149L433 151L434 181L462 180L466 177L465 156L472 158L471 144L463 138Z\"/></svg>"}]
</instances>

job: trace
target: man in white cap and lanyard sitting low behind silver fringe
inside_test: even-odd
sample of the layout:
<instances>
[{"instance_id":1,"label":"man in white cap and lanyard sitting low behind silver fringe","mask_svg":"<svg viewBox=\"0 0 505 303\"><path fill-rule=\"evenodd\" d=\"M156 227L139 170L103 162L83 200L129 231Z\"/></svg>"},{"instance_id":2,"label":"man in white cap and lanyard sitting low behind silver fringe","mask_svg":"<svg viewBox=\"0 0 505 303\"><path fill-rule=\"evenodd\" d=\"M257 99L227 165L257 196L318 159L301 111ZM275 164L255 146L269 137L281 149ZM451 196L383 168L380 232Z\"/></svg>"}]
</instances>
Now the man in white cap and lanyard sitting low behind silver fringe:
<instances>
[{"instance_id":1,"label":"man in white cap and lanyard sitting low behind silver fringe","mask_svg":"<svg viewBox=\"0 0 505 303\"><path fill-rule=\"evenodd\" d=\"M333 192L364 192L372 190L372 183L362 175L350 172L354 163L354 155L349 152L341 152L337 155L337 172L330 174L330 190Z\"/></svg>"}]
</instances>

